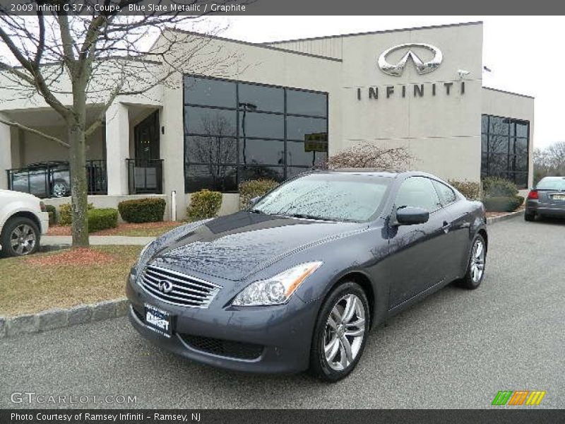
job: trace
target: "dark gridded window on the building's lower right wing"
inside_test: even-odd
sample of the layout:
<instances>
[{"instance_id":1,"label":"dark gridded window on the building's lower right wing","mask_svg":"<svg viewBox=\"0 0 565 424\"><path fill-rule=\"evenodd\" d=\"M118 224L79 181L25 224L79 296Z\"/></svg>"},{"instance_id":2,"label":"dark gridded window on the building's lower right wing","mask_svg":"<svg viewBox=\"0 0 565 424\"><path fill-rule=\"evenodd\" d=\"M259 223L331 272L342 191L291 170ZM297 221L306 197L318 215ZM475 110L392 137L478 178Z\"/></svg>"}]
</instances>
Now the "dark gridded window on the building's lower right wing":
<instances>
[{"instance_id":1,"label":"dark gridded window on the building's lower right wing","mask_svg":"<svg viewBox=\"0 0 565 424\"><path fill-rule=\"evenodd\" d=\"M481 177L510 179L528 187L530 122L482 115Z\"/></svg>"}]
</instances>

